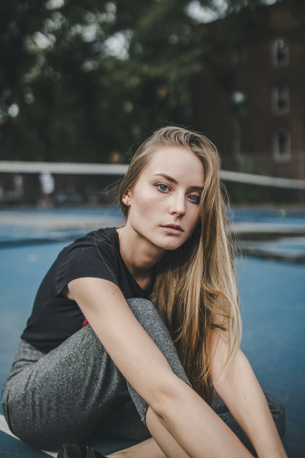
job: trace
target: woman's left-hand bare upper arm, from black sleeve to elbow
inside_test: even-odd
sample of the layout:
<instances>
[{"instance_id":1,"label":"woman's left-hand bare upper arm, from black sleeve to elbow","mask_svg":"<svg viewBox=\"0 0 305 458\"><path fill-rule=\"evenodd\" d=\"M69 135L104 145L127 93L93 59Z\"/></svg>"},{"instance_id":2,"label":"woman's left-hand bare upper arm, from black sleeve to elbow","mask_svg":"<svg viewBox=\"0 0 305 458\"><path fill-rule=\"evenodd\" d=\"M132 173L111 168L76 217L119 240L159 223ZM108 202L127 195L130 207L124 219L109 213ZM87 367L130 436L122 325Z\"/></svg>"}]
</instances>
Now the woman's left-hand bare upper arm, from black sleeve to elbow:
<instances>
[{"instance_id":1,"label":"woman's left-hand bare upper arm, from black sleeve to elbow","mask_svg":"<svg viewBox=\"0 0 305 458\"><path fill-rule=\"evenodd\" d=\"M165 381L178 377L135 318L118 286L102 278L77 278L68 289L68 297L77 302L123 376L154 408Z\"/></svg>"}]
</instances>

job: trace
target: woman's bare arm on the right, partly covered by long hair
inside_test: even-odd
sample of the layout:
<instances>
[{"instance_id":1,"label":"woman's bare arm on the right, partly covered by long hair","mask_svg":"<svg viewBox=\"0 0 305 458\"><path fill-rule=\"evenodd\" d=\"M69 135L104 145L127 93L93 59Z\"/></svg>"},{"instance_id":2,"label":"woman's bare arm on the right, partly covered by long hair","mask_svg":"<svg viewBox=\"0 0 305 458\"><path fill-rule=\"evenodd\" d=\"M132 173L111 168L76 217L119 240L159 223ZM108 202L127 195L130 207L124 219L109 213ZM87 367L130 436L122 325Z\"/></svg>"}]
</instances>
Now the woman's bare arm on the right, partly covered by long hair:
<instances>
[{"instance_id":1,"label":"woman's bare arm on the right, partly covered by long hair","mask_svg":"<svg viewBox=\"0 0 305 458\"><path fill-rule=\"evenodd\" d=\"M259 458L287 458L267 400L241 349L223 371L228 348L223 333L212 338L212 379L216 392L252 442Z\"/></svg>"}]
</instances>

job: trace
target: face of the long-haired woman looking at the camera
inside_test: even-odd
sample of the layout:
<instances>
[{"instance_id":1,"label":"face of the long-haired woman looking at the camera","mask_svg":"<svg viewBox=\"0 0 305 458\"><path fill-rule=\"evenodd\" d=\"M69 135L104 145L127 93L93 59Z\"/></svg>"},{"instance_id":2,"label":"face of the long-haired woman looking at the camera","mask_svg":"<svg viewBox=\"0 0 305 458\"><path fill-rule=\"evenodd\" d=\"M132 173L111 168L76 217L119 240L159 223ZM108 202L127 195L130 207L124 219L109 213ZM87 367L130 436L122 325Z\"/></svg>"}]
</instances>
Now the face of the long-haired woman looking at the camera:
<instances>
[{"instance_id":1,"label":"face of the long-haired woman looking at the camera","mask_svg":"<svg viewBox=\"0 0 305 458\"><path fill-rule=\"evenodd\" d=\"M183 148L159 149L134 189L123 196L130 206L127 225L150 244L175 250L199 223L203 184L203 164L194 153Z\"/></svg>"}]
</instances>

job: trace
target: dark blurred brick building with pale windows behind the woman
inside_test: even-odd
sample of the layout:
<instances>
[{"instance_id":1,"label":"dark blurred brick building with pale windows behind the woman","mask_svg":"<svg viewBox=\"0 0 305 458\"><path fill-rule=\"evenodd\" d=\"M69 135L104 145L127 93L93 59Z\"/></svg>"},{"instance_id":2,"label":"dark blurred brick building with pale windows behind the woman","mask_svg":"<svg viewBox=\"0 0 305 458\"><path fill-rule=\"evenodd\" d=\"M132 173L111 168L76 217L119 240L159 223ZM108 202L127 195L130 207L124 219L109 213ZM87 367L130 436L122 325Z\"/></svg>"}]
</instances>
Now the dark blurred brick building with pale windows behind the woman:
<instances>
[{"instance_id":1,"label":"dark blurred brick building with pale windows behind the woman","mask_svg":"<svg viewBox=\"0 0 305 458\"><path fill-rule=\"evenodd\" d=\"M305 178L305 9L297 5L283 0L201 26L193 126L219 148L224 169Z\"/></svg>"}]
</instances>

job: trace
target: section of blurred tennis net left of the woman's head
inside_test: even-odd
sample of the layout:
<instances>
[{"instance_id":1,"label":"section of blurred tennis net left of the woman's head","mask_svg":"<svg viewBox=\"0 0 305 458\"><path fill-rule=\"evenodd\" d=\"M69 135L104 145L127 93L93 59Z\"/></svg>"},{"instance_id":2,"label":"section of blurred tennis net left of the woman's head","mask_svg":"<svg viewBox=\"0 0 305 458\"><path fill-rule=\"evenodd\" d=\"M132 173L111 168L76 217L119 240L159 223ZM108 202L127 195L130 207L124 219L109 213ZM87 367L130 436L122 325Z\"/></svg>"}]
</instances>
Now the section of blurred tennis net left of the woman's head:
<instances>
[{"instance_id":1,"label":"section of blurred tennis net left of the woman's head","mask_svg":"<svg viewBox=\"0 0 305 458\"><path fill-rule=\"evenodd\" d=\"M70 240L121 224L115 187L127 166L0 161L0 244Z\"/></svg>"}]
</instances>

